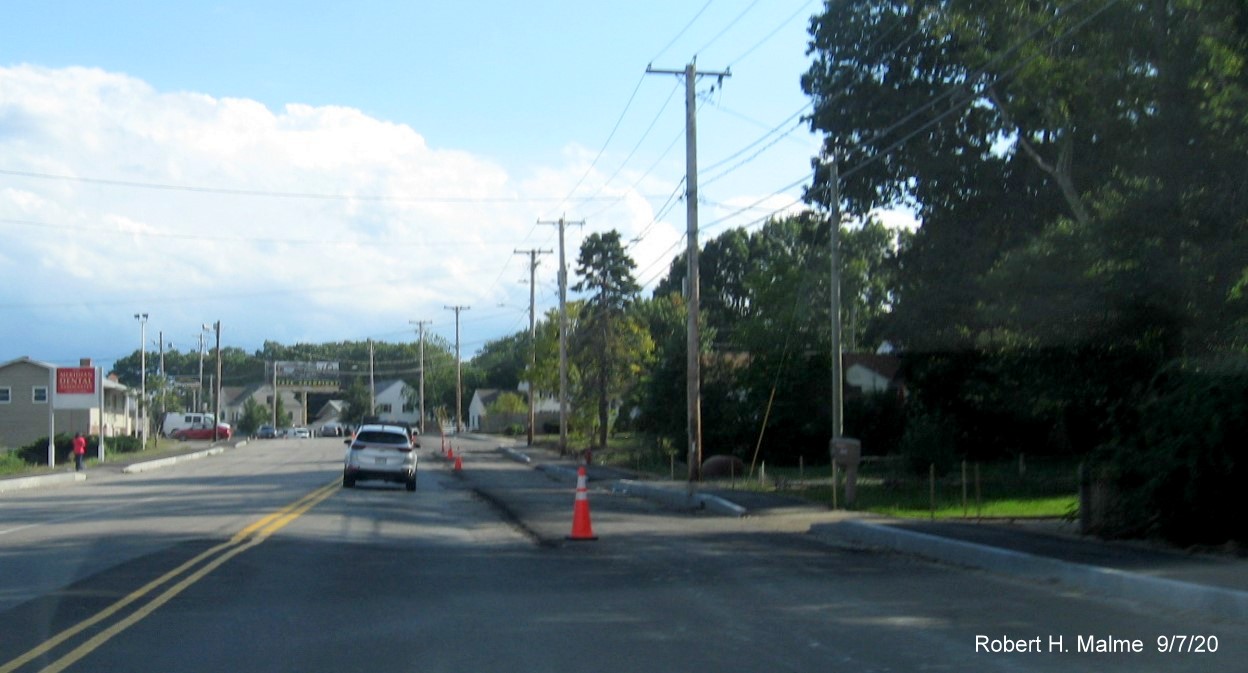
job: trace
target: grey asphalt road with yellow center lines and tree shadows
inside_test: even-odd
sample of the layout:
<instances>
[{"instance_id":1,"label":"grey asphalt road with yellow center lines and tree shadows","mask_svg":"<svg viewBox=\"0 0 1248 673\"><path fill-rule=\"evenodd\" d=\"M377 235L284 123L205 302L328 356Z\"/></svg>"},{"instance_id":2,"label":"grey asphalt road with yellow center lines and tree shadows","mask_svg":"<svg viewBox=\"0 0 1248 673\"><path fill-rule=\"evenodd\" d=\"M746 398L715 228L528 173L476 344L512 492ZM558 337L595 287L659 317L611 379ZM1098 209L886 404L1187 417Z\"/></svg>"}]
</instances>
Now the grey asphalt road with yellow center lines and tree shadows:
<instances>
[{"instance_id":1,"label":"grey asphalt road with yellow center lines and tree shadows","mask_svg":"<svg viewBox=\"0 0 1248 673\"><path fill-rule=\"evenodd\" d=\"M427 446L414 493L342 489L341 442L292 440L0 494L0 673L1203 672L1248 654L1242 624L829 547L804 534L826 512L593 489L599 539L567 542L565 471L454 443L463 471ZM1158 653L1172 636L1217 652ZM1098 638L1142 652L1078 652Z\"/></svg>"}]
</instances>

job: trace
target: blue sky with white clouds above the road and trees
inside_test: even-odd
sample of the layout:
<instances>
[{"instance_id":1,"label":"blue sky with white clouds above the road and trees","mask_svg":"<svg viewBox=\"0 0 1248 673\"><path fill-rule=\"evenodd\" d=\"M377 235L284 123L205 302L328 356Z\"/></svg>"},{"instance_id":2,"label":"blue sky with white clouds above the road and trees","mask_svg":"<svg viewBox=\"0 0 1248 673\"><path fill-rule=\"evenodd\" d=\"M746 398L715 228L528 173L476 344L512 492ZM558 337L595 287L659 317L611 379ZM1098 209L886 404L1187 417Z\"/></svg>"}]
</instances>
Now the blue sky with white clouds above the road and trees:
<instances>
[{"instance_id":1,"label":"blue sky with white clouds above the road and trees","mask_svg":"<svg viewBox=\"0 0 1248 673\"><path fill-rule=\"evenodd\" d=\"M817 0L42 1L0 22L0 361L527 327L527 257L618 230L683 247L680 77L701 240L799 207ZM539 315L557 305L540 258ZM155 338L152 336L151 338Z\"/></svg>"}]
</instances>

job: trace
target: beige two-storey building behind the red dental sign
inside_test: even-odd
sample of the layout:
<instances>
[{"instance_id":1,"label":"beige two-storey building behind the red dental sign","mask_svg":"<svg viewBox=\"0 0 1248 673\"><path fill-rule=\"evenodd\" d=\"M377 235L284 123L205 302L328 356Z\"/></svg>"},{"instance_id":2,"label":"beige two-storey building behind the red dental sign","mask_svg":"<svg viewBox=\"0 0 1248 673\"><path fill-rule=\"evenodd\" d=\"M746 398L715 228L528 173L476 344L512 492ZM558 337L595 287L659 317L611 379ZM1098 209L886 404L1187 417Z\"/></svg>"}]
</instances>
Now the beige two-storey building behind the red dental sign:
<instances>
[{"instance_id":1,"label":"beige two-storey building behind the red dental sign","mask_svg":"<svg viewBox=\"0 0 1248 673\"><path fill-rule=\"evenodd\" d=\"M82 360L80 367L91 367L91 361ZM47 437L49 426L57 435L99 435L101 430L107 437L135 433L136 403L130 388L116 377L104 377L102 410L94 400L81 408L67 408L54 395L59 368L79 367L57 367L29 357L0 363L0 447L16 448Z\"/></svg>"}]
</instances>

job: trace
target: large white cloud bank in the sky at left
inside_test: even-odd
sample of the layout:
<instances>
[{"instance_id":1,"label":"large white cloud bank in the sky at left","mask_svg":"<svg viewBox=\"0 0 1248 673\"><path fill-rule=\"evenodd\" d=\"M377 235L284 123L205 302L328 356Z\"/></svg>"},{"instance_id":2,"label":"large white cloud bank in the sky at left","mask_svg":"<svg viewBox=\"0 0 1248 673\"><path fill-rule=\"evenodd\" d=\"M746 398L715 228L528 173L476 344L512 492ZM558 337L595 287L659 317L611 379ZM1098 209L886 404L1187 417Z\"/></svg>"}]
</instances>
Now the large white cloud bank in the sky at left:
<instances>
[{"instance_id":1,"label":"large white cloud bank in the sky at left","mask_svg":"<svg viewBox=\"0 0 1248 673\"><path fill-rule=\"evenodd\" d=\"M126 355L136 311L176 347L222 320L227 345L253 350L265 340L391 333L416 317L451 321L444 305L527 301L512 287L527 271L514 248L550 245L553 227L535 226L554 207L547 197L569 194L588 166L570 154L568 165L513 176L348 107L275 111L97 69L0 67L10 262L0 268L0 321L39 325L0 331L14 350L0 361ZM602 180L595 169L585 184ZM644 233L639 265L664 250L670 258L680 232L654 224L636 191L612 192L619 202L588 231ZM574 207L602 205L563 207L579 219ZM569 232L569 266L582 236ZM549 277L554 260L542 266Z\"/></svg>"}]
</instances>

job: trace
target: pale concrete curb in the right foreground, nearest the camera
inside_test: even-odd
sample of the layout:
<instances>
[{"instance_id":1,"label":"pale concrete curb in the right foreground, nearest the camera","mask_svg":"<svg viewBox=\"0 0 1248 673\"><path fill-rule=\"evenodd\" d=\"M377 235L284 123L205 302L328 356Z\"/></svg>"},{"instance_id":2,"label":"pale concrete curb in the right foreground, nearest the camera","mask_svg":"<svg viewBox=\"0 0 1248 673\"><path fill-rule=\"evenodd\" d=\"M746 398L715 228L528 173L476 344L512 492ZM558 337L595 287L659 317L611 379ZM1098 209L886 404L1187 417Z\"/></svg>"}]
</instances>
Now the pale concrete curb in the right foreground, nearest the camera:
<instances>
[{"instance_id":1,"label":"pale concrete curb in the right foreground, nearest the camera","mask_svg":"<svg viewBox=\"0 0 1248 673\"><path fill-rule=\"evenodd\" d=\"M1248 621L1248 592L1193 584L1164 577L1131 573L1116 568L1070 563L1011 549L986 547L960 539L904 531L886 523L844 521L811 526L816 537L831 536L861 544L932 558L1040 581L1057 581L1117 598L1151 603L1179 611L1197 611L1223 619Z\"/></svg>"}]
</instances>

